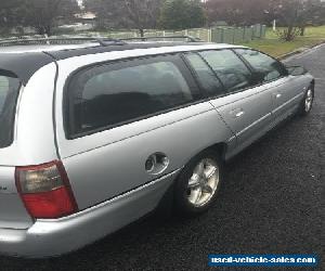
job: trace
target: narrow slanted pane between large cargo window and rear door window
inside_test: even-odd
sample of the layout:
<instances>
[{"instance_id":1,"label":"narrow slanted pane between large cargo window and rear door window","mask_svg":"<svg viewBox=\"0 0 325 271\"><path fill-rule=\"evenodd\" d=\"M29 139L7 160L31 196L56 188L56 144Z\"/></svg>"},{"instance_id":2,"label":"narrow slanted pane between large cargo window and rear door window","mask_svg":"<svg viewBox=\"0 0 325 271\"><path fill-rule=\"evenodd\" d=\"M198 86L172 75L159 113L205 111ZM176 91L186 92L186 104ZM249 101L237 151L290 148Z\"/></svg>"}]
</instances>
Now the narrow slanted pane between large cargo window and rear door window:
<instances>
[{"instance_id":1,"label":"narrow slanted pane between large cargo window and rear door window","mask_svg":"<svg viewBox=\"0 0 325 271\"><path fill-rule=\"evenodd\" d=\"M221 85L220 80L198 54L188 53L185 54L185 57L190 62L192 68L195 70L200 86L208 92L209 95L216 96L224 93L223 86Z\"/></svg>"}]
</instances>

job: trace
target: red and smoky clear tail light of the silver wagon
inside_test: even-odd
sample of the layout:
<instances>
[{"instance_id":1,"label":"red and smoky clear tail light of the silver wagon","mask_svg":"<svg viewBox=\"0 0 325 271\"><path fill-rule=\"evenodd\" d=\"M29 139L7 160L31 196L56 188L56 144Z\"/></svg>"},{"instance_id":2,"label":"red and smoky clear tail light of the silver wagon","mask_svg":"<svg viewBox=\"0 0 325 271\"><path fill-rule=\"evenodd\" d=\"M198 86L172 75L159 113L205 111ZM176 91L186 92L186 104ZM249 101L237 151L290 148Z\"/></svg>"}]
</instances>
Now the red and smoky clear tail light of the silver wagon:
<instances>
[{"instance_id":1,"label":"red and smoky clear tail light of the silver wagon","mask_svg":"<svg viewBox=\"0 0 325 271\"><path fill-rule=\"evenodd\" d=\"M78 210L61 162L16 167L15 177L17 190L31 217L55 219Z\"/></svg>"}]
</instances>

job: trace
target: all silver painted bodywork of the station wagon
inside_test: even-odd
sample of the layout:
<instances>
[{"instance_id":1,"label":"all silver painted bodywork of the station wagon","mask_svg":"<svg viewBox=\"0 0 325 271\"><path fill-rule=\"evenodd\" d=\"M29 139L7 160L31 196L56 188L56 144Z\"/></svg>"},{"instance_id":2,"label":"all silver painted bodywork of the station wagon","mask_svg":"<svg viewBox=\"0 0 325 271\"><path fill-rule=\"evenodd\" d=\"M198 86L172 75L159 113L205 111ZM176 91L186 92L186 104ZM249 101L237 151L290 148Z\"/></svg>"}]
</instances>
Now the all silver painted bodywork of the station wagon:
<instances>
[{"instance_id":1,"label":"all silver painted bodywork of the station wagon","mask_svg":"<svg viewBox=\"0 0 325 271\"><path fill-rule=\"evenodd\" d=\"M297 109L313 79L309 74L66 139L63 90L76 69L123 57L222 48L235 47L179 46L62 60L56 90L55 64L39 69L20 93L14 142L0 149L0 253L44 257L94 242L153 210L178 172L203 150L223 143L224 159L229 159ZM152 175L145 162L157 153L166 155L168 163ZM32 221L17 194L15 167L55 159L65 166L80 211Z\"/></svg>"}]
</instances>

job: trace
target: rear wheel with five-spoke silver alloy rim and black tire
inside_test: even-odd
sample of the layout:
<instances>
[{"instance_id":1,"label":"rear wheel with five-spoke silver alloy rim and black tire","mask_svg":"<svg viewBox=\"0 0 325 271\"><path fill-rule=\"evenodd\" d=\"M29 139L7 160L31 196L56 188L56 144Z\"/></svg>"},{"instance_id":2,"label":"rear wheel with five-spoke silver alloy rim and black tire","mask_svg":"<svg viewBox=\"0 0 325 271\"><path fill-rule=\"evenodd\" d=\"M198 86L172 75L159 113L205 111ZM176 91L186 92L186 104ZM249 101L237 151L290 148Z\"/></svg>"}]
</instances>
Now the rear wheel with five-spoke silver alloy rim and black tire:
<instances>
[{"instance_id":1,"label":"rear wheel with five-spoke silver alloy rim and black tire","mask_svg":"<svg viewBox=\"0 0 325 271\"><path fill-rule=\"evenodd\" d=\"M223 163L218 153L207 150L192 158L176 183L178 214L192 217L206 211L216 201L222 179Z\"/></svg>"}]
</instances>

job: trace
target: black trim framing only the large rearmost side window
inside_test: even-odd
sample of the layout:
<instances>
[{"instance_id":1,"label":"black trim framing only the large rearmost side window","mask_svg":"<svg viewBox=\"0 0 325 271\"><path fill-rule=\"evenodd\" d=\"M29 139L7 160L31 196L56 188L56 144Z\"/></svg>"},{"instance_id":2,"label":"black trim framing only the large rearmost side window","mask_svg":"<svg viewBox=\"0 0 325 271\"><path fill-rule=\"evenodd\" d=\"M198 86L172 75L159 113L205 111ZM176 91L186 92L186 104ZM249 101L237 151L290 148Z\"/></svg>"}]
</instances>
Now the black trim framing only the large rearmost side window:
<instances>
[{"instance_id":1,"label":"black trim framing only the large rearmost side window","mask_svg":"<svg viewBox=\"0 0 325 271\"><path fill-rule=\"evenodd\" d=\"M164 54L156 54L156 55L132 56L132 57L125 57L125 59L113 60L113 61L104 61L101 63L92 63L89 65L84 65L84 66L79 67L76 70L74 70L74 73L72 73L68 76L68 78L66 79L64 90L63 90L62 113L63 113L63 128L64 128L64 132L65 132L65 138L67 140L75 140L78 138L83 138L87 136L112 130L114 128L118 128L118 127L121 127L125 125L129 125L132 122L136 122L140 120L144 120L144 119L154 117L154 116L159 116L159 115L162 115L162 114L176 111L176 109L181 109L181 108L188 107L191 105L202 103L204 93L203 93L202 89L197 86L197 82L196 82L195 78L193 77L191 70L183 62L183 60L181 57L181 53L182 52L164 53ZM193 94L193 101L181 104L181 105L172 106L167 109L158 111L158 112L155 112L152 114L143 115L143 116L140 116L136 118L128 119L126 121L119 121L114 125L107 125L104 127L95 128L95 129L92 129L89 131L81 131L81 132L76 132L76 133L72 132L72 122L74 120L74 117L73 117L70 100L72 100L73 91L69 90L69 86L70 86L73 78L75 78L76 75L78 75L79 73L82 73L87 69L105 66L105 65L107 65L107 66L108 65L117 65L117 64L125 64L128 62L136 62L136 61L139 62L139 65L141 65L141 62L143 62L143 64L145 62L155 63L155 62L159 62L159 61L157 61L159 59L161 59L161 62L171 62L176 65L176 67L179 69L179 72L183 76L183 79L185 80L191 93ZM138 65L134 65L134 66L138 66Z\"/></svg>"}]
</instances>

